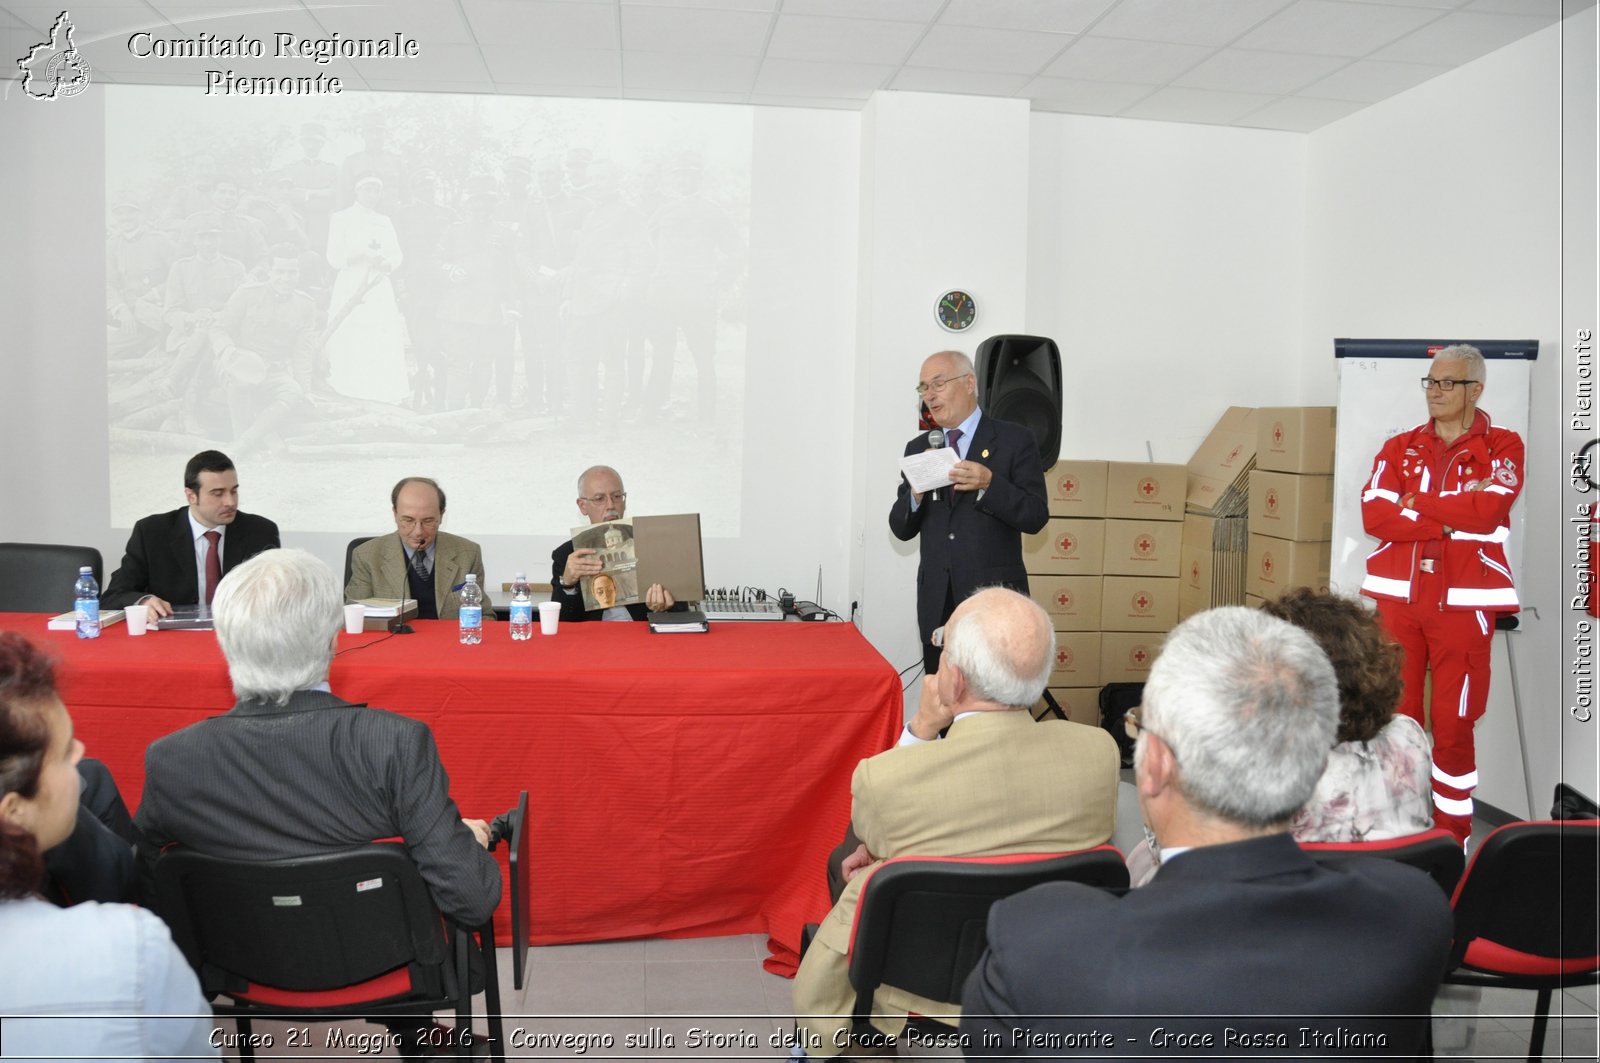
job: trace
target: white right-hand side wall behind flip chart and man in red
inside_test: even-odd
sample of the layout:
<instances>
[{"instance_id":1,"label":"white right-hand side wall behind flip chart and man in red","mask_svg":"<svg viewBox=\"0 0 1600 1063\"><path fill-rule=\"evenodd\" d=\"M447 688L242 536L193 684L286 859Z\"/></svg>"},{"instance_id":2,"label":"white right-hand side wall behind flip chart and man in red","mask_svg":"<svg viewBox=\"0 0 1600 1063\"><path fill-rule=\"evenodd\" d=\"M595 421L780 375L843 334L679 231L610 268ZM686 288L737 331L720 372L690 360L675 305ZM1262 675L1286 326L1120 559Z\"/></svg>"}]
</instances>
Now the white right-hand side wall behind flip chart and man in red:
<instances>
[{"instance_id":1,"label":"white right-hand side wall behind flip chart and man in red","mask_svg":"<svg viewBox=\"0 0 1600 1063\"><path fill-rule=\"evenodd\" d=\"M1304 399L1331 402L1336 336L1538 338L1528 443L1523 628L1510 637L1522 695L1522 741L1534 805L1566 776L1597 792L1595 724L1563 728L1563 549L1570 535L1560 431L1565 338L1594 327L1594 24L1589 10L1309 136L1306 207ZM1570 62L1562 126L1563 35L1589 42ZM1584 90L1587 85L1587 90ZM1563 150L1571 202L1563 231ZM1587 166L1587 173L1584 173ZM1563 263L1587 272L1571 287L1563 325ZM1574 280L1574 279L1568 279ZM1587 293L1587 295L1584 295ZM1483 399L1494 410L1494 383ZM1426 416L1418 395L1418 421ZM1530 812L1506 647L1496 647L1490 712L1478 725L1478 797ZM1565 736L1563 736L1565 732Z\"/></svg>"}]
</instances>

